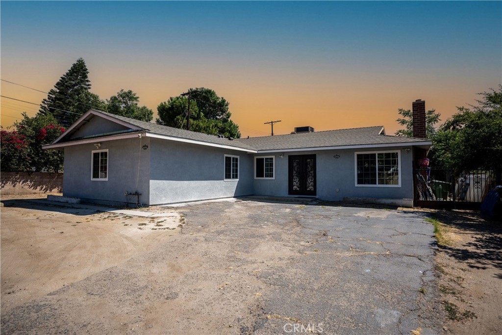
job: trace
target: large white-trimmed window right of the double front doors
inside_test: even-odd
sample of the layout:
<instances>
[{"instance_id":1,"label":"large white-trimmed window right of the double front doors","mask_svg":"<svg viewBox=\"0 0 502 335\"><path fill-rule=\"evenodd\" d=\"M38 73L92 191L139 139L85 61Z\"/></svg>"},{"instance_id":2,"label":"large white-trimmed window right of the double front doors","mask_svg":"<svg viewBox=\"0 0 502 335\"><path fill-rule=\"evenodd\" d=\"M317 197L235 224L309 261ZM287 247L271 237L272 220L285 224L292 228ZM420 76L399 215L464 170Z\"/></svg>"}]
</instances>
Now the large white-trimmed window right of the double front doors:
<instances>
[{"instance_id":1,"label":"large white-trimmed window right of the double front doors","mask_svg":"<svg viewBox=\"0 0 502 335\"><path fill-rule=\"evenodd\" d=\"M401 187L399 151L356 152L355 186Z\"/></svg>"}]
</instances>

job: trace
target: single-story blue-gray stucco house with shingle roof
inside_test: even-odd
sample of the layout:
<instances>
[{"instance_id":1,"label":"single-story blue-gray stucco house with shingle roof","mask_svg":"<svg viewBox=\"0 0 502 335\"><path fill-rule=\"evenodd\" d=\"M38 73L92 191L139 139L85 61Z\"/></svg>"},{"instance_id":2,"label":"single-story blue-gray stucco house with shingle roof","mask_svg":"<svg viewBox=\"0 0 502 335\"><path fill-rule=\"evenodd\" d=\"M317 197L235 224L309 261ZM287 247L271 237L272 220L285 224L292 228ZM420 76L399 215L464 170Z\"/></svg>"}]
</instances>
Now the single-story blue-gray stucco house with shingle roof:
<instances>
[{"instance_id":1,"label":"single-story blue-gray stucco house with shingle roof","mask_svg":"<svg viewBox=\"0 0 502 335\"><path fill-rule=\"evenodd\" d=\"M89 110L44 149L64 150L63 196L159 205L244 195L412 205L414 151L382 126L228 139Z\"/></svg>"}]
</instances>

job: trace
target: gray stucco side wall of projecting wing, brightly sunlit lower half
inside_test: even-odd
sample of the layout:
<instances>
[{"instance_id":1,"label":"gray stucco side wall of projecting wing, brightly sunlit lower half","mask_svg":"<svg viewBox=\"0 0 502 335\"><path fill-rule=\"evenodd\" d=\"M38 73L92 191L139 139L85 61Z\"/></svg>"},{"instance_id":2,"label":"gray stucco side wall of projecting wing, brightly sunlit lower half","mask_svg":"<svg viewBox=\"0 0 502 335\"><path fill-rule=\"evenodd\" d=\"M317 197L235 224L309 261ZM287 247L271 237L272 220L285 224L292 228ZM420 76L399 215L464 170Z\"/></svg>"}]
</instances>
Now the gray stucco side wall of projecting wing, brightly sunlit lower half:
<instances>
[{"instance_id":1,"label":"gray stucco side wall of projecting wing, brightly sunlit lower half","mask_svg":"<svg viewBox=\"0 0 502 335\"><path fill-rule=\"evenodd\" d=\"M253 194L253 155L151 139L150 204ZM239 180L224 180L224 155L239 156Z\"/></svg>"}]
</instances>

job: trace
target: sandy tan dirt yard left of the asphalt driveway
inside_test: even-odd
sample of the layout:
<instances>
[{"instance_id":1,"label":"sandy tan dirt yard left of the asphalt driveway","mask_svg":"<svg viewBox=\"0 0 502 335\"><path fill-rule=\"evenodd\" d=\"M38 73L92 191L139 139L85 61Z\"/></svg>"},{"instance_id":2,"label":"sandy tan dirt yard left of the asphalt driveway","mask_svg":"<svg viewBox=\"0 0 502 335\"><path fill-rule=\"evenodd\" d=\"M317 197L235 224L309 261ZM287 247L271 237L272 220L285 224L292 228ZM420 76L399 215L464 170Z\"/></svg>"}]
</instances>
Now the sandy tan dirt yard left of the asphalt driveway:
<instances>
[{"instance_id":1,"label":"sandy tan dirt yard left of the asphalt driveway","mask_svg":"<svg viewBox=\"0 0 502 335\"><path fill-rule=\"evenodd\" d=\"M149 252L180 232L180 228L164 229L173 218L10 203L45 197L2 196L3 311Z\"/></svg>"}]
</instances>

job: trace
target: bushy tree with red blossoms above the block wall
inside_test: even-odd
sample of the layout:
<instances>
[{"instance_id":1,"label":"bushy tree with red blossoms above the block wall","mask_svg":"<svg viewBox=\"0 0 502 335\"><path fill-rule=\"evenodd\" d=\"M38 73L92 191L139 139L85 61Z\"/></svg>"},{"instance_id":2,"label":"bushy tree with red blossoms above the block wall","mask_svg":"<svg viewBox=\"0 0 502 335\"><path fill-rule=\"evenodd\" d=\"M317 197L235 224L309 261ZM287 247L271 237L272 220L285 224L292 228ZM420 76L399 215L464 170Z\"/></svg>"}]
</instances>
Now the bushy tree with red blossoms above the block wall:
<instances>
[{"instance_id":1,"label":"bushy tree with red blossoms above the block wall","mask_svg":"<svg viewBox=\"0 0 502 335\"><path fill-rule=\"evenodd\" d=\"M16 131L2 131L3 171L63 170L63 152L42 149L42 145L54 142L65 131L52 115L39 113L30 118L23 113L23 120L14 126Z\"/></svg>"}]
</instances>

